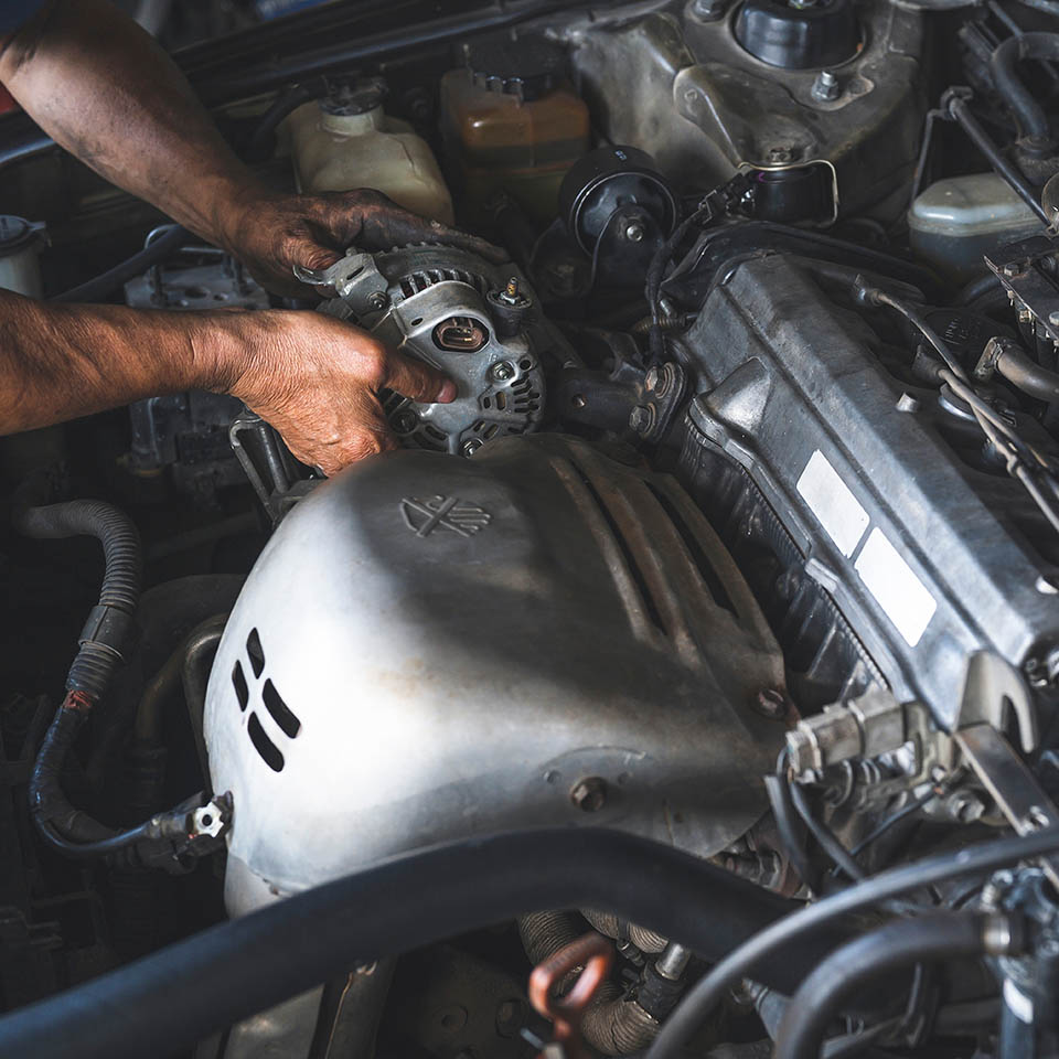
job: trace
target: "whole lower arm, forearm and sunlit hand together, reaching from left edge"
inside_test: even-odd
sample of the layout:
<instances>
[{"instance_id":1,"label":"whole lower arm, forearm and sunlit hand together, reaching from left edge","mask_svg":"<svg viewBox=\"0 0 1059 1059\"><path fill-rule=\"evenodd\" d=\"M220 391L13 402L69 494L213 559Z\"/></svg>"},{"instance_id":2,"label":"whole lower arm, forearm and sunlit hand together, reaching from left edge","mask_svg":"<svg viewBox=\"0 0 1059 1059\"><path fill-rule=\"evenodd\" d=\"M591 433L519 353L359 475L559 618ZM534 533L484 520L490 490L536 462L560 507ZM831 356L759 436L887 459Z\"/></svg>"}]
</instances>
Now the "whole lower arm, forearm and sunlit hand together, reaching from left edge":
<instances>
[{"instance_id":1,"label":"whole lower arm, forearm and sunlit hand together, reaching from left edge","mask_svg":"<svg viewBox=\"0 0 1059 1059\"><path fill-rule=\"evenodd\" d=\"M57 306L0 290L0 435L184 389L244 400L328 473L394 446L375 396L446 402L435 368L319 312Z\"/></svg>"}]
</instances>

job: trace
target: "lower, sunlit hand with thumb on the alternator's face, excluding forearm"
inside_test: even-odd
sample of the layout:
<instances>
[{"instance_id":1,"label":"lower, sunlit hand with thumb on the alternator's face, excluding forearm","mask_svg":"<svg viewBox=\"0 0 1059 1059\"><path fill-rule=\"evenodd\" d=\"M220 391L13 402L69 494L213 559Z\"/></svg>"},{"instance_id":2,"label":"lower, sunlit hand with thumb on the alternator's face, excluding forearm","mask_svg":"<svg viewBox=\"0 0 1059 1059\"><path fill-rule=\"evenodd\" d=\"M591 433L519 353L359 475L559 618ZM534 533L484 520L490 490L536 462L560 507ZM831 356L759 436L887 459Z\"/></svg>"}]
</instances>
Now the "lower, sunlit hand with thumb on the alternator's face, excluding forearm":
<instances>
[{"instance_id":1,"label":"lower, sunlit hand with thumb on the alternator's face, excluding forearm","mask_svg":"<svg viewBox=\"0 0 1059 1059\"><path fill-rule=\"evenodd\" d=\"M266 310L224 322L238 345L225 389L325 474L396 448L376 396L381 387L428 403L456 396L456 384L436 368L333 317Z\"/></svg>"}]
</instances>

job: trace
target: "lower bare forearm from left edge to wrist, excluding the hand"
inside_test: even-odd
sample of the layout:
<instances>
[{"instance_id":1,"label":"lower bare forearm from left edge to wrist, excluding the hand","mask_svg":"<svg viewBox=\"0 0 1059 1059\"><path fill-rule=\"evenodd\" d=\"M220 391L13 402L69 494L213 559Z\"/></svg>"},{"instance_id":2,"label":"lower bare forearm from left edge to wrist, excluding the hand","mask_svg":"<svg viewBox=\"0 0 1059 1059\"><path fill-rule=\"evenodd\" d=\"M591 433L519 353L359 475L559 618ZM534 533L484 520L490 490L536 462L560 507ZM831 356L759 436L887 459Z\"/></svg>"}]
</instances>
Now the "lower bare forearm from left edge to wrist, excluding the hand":
<instances>
[{"instance_id":1,"label":"lower bare forearm from left edge to wrist, excluding the hand","mask_svg":"<svg viewBox=\"0 0 1059 1059\"><path fill-rule=\"evenodd\" d=\"M232 389L249 345L240 318L55 306L0 290L0 435L157 394Z\"/></svg>"}]
</instances>

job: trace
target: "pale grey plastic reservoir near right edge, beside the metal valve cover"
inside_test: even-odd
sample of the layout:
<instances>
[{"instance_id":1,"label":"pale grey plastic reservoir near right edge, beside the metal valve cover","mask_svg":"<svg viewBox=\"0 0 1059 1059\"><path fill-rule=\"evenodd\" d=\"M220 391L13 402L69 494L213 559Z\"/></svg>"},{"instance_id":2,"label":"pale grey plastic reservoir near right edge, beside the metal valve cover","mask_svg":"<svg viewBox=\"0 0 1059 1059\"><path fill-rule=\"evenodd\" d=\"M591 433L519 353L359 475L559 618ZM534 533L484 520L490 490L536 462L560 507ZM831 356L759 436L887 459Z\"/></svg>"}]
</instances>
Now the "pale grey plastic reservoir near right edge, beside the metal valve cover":
<instances>
[{"instance_id":1,"label":"pale grey plastic reservoir near right edge, beside the metal valve cover","mask_svg":"<svg viewBox=\"0 0 1059 1059\"><path fill-rule=\"evenodd\" d=\"M908 211L912 249L950 279L985 270L983 254L1044 232L1034 212L996 173L931 184Z\"/></svg>"}]
</instances>

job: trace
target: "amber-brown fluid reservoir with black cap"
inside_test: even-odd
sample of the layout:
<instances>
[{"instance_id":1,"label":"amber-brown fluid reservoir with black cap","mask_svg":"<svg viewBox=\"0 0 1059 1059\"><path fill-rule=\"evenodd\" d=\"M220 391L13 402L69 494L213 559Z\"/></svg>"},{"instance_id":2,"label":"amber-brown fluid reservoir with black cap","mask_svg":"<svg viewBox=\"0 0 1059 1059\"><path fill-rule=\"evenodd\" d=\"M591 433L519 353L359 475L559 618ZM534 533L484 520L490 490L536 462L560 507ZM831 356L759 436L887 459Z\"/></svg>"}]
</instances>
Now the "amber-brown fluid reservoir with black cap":
<instances>
[{"instance_id":1,"label":"amber-brown fluid reservoir with black cap","mask_svg":"<svg viewBox=\"0 0 1059 1059\"><path fill-rule=\"evenodd\" d=\"M468 44L466 57L441 78L441 122L468 212L503 190L552 220L563 178L589 148L588 107L564 79L564 53L542 39L493 36Z\"/></svg>"}]
</instances>

